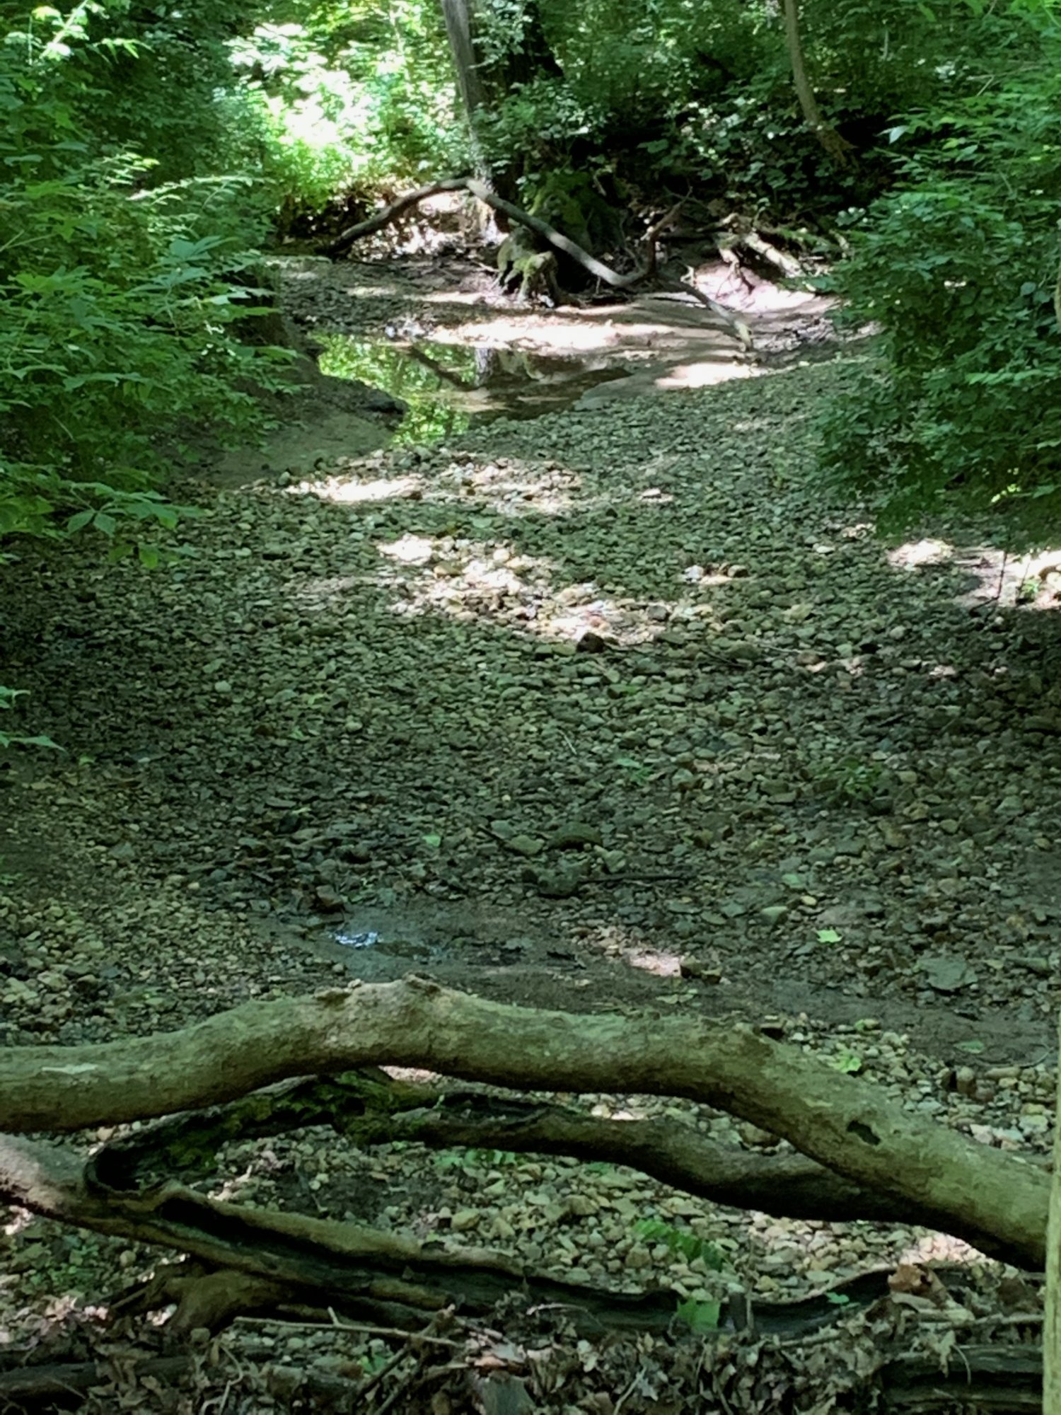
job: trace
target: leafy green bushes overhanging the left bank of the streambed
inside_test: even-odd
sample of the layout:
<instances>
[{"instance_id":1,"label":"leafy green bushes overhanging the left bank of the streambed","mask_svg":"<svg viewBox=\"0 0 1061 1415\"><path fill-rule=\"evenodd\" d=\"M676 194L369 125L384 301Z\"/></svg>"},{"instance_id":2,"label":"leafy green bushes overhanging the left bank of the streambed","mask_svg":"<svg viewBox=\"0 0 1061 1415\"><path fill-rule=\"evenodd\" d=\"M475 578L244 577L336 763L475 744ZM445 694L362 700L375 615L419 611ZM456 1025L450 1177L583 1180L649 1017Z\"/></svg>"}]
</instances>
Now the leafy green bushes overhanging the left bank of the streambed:
<instances>
[{"instance_id":1,"label":"leafy green bushes overhanging the left bank of the streambed","mask_svg":"<svg viewBox=\"0 0 1061 1415\"><path fill-rule=\"evenodd\" d=\"M274 385L287 355L238 337L263 293L249 181L156 183L154 157L110 144L93 64L136 47L91 40L102 20L38 10L0 44L0 538L91 526L122 550L126 531L177 521L151 491L161 437L250 429L248 388Z\"/></svg>"}]
</instances>

